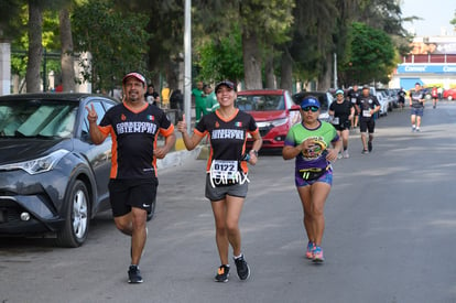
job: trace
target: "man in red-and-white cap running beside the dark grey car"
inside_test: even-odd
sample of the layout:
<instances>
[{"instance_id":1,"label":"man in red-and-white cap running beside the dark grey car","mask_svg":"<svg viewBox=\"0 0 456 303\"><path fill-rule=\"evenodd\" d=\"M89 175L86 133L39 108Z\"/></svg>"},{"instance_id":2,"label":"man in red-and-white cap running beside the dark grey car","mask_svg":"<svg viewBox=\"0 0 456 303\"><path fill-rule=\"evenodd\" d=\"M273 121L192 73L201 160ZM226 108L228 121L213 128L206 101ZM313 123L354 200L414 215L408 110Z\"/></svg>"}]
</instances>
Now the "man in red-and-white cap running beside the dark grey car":
<instances>
[{"instance_id":1,"label":"man in red-and-white cap running beside the dark grey car","mask_svg":"<svg viewBox=\"0 0 456 303\"><path fill-rule=\"evenodd\" d=\"M162 159L174 147L174 126L160 108L144 99L145 78L139 73L122 79L123 101L111 107L97 126L97 112L87 107L89 133L95 144L110 134L112 165L109 196L116 227L131 236L131 266L129 283L142 283L139 262L146 240L146 215L155 199L156 159ZM165 138L156 147L158 133Z\"/></svg>"}]
</instances>

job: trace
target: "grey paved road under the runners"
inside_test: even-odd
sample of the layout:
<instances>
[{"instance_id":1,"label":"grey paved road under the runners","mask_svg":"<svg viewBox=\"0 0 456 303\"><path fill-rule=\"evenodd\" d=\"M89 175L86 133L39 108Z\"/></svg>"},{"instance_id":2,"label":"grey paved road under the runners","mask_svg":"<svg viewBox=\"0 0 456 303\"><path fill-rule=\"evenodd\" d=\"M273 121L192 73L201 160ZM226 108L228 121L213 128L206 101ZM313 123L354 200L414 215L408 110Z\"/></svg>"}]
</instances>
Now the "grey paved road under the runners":
<instances>
[{"instance_id":1,"label":"grey paved road under the runners","mask_svg":"<svg viewBox=\"0 0 456 303\"><path fill-rule=\"evenodd\" d=\"M373 152L335 163L326 205L326 262L304 258L292 161L261 155L241 217L251 279L215 283L214 223L205 161L160 172L156 217L129 285L129 239L109 213L78 249L0 238L0 302L456 302L456 104L426 108L412 133L408 110L377 123Z\"/></svg>"}]
</instances>

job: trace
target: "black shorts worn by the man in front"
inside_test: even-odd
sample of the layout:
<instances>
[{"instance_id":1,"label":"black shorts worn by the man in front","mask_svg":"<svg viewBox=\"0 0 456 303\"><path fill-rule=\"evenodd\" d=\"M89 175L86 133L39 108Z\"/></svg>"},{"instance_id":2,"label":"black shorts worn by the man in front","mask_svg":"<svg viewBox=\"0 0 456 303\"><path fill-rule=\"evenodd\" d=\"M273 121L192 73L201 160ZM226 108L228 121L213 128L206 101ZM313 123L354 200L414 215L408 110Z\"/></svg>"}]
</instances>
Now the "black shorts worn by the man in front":
<instances>
[{"instance_id":1,"label":"black shorts worn by the man in front","mask_svg":"<svg viewBox=\"0 0 456 303\"><path fill-rule=\"evenodd\" d=\"M156 177L143 180L111 178L108 186L112 215L120 217L130 213L131 207L150 213L152 202L156 196L159 180Z\"/></svg>"}]
</instances>

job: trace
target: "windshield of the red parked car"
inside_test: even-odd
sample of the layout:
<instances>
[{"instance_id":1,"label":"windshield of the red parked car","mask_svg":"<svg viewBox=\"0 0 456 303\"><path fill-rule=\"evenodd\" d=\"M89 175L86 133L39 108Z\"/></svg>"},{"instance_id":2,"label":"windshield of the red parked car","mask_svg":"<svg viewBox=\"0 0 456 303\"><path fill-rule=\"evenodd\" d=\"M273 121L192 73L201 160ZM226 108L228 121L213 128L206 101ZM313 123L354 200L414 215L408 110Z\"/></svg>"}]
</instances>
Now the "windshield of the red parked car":
<instances>
[{"instance_id":1,"label":"windshield of the red parked car","mask_svg":"<svg viewBox=\"0 0 456 303\"><path fill-rule=\"evenodd\" d=\"M245 95L238 96L236 106L246 111L284 110L283 95Z\"/></svg>"}]
</instances>

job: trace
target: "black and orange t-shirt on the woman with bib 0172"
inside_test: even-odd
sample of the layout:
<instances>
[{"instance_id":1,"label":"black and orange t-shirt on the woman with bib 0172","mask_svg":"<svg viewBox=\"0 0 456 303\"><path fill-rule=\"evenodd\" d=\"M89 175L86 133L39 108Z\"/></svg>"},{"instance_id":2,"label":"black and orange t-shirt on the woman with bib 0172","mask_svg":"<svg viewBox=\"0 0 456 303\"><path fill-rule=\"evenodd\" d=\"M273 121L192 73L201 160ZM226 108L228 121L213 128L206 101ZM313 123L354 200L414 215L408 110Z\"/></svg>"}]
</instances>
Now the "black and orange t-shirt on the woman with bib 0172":
<instances>
[{"instance_id":1,"label":"black and orange t-shirt on the woman with bib 0172","mask_svg":"<svg viewBox=\"0 0 456 303\"><path fill-rule=\"evenodd\" d=\"M210 170L214 160L240 162L246 152L247 132L258 131L253 117L239 109L230 119L220 117L218 110L203 116L194 132L200 137L209 134L210 158L207 162L207 171ZM240 166L242 172L247 173L245 161Z\"/></svg>"}]
</instances>

